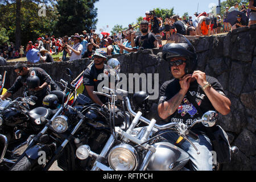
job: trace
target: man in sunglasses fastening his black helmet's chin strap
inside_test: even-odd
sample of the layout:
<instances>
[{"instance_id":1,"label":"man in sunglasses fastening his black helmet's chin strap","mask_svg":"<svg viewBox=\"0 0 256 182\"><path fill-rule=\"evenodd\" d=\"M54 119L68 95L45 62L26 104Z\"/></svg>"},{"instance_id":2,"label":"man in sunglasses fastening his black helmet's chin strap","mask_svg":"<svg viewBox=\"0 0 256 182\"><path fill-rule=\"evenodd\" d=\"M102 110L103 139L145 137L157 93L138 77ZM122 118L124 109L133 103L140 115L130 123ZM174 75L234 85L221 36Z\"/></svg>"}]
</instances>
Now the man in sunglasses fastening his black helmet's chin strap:
<instances>
[{"instance_id":1,"label":"man in sunglasses fastening his black helmet's chin strap","mask_svg":"<svg viewBox=\"0 0 256 182\"><path fill-rule=\"evenodd\" d=\"M221 84L216 78L196 70L197 56L195 49L187 44L166 44L163 48L163 59L170 64L174 79L164 82L160 88L158 113L168 122L182 122L187 126L200 119L203 113L216 110L226 115L230 112L230 100L225 96ZM187 151L191 160L191 169L199 171L212 170L212 144L202 123L192 127L199 140L191 139L200 151L185 140L180 147ZM176 133L163 135L175 143L179 136Z\"/></svg>"}]
</instances>

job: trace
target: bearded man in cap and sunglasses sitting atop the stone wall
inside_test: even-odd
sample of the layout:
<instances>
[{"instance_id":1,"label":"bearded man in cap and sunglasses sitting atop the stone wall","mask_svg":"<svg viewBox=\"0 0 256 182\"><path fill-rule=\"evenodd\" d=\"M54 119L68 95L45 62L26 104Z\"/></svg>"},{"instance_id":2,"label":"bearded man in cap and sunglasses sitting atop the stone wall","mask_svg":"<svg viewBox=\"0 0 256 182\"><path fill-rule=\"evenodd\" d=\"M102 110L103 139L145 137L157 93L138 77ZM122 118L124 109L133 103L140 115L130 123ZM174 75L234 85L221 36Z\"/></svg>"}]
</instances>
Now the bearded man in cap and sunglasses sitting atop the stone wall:
<instances>
[{"instance_id":1,"label":"bearded man in cap and sunglasses sitting atop the stone wall","mask_svg":"<svg viewBox=\"0 0 256 182\"><path fill-rule=\"evenodd\" d=\"M139 49L152 49L152 48L159 48L158 40L156 39L155 35L151 32L148 32L148 21L142 20L140 25L140 30L142 35L137 36L135 38L135 32L131 34L131 46L138 47Z\"/></svg>"}]
</instances>

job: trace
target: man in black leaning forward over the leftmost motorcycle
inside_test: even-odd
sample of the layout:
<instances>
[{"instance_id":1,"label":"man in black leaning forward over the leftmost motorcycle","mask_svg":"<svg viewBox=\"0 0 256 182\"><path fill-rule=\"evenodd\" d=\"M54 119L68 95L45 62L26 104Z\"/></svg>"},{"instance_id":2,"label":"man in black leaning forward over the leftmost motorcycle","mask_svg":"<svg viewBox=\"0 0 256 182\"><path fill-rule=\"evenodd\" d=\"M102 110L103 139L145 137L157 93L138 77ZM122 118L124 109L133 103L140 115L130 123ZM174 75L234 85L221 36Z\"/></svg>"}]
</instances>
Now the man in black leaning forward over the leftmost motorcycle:
<instances>
[{"instance_id":1,"label":"man in black leaning forward over the leftmost motorcycle","mask_svg":"<svg viewBox=\"0 0 256 182\"><path fill-rule=\"evenodd\" d=\"M18 75L13 86L5 94L0 96L2 100L16 93L22 86L25 86L28 96L36 96L36 105L42 106L43 98L49 94L49 85L59 88L51 77L42 68L28 68L24 63L17 63L14 71ZM52 89L53 90L53 89Z\"/></svg>"}]
</instances>

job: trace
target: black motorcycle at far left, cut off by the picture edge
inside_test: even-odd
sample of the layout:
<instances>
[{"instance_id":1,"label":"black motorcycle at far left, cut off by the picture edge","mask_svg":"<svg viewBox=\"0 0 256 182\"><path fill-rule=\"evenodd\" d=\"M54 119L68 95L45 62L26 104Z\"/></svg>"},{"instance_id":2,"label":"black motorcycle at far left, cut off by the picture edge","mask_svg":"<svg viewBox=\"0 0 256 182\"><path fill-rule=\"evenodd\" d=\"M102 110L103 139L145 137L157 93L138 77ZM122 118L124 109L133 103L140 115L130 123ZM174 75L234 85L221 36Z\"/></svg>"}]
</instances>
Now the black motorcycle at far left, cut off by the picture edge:
<instances>
[{"instance_id":1,"label":"black motorcycle at far left, cut off by the picture edge","mask_svg":"<svg viewBox=\"0 0 256 182\"><path fill-rule=\"evenodd\" d=\"M3 87L2 87L3 88ZM60 91L50 94L58 95ZM56 108L36 107L35 96L18 97L15 100L7 98L0 101L0 169L10 169L19 159L19 155L26 150L27 138L38 133L44 126L40 117L50 118L56 113Z\"/></svg>"}]
</instances>

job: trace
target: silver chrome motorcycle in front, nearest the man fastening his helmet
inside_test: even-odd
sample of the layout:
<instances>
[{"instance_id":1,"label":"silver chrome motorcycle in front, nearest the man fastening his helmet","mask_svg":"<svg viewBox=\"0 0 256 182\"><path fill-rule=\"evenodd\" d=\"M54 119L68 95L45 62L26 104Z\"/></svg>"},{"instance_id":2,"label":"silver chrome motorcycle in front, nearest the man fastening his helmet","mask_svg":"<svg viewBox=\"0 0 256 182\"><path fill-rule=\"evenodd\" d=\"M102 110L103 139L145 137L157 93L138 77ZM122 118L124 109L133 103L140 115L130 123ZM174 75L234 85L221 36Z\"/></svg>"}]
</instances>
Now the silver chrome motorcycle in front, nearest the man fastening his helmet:
<instances>
[{"instance_id":1,"label":"silver chrome motorcycle in front, nearest the man fastening his helmet","mask_svg":"<svg viewBox=\"0 0 256 182\"><path fill-rule=\"evenodd\" d=\"M171 144L160 137L166 132L176 132L181 140L187 140L193 148L200 154L200 151L191 142L189 137L198 139L198 136L191 131L191 128L196 123L203 123L206 127L212 127L217 120L217 113L215 111L208 111L203 117L197 120L193 125L187 126L184 123L168 123L166 125L156 125L156 120L142 117L141 111L135 113L131 109L130 101L127 91L117 89L112 90L103 88L104 92L111 94L108 97L116 97L119 100L125 101L127 109L134 119L129 129L126 131L120 127L115 127L114 134L110 136L105 147L100 154L92 151L90 146L82 145L77 148L76 156L80 160L87 158L96 159L92 171L174 171L174 170L188 170L185 164L189 161L189 155L181 148ZM102 93L97 93L102 94ZM146 127L137 127L139 121L146 123ZM236 147L230 148L230 151L236 151Z\"/></svg>"}]
</instances>

